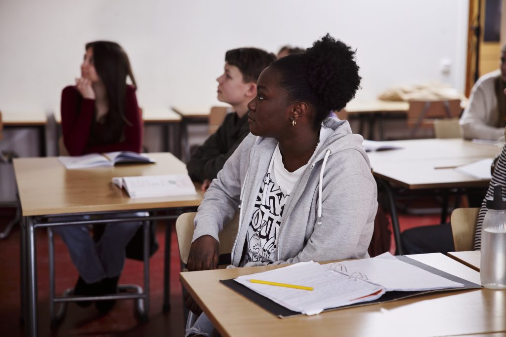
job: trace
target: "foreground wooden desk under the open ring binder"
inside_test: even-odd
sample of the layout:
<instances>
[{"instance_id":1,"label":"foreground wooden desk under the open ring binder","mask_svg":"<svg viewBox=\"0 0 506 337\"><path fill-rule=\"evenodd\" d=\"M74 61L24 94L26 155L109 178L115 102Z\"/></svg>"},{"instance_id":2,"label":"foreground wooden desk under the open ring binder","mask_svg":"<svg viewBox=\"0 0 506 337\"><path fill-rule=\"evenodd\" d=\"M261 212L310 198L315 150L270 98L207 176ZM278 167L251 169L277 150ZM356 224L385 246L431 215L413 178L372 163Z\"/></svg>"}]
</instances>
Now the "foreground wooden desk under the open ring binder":
<instances>
[{"instance_id":1,"label":"foreground wooden desk under the open ring binder","mask_svg":"<svg viewBox=\"0 0 506 337\"><path fill-rule=\"evenodd\" d=\"M479 273L442 255L409 256L479 283ZM506 292L485 288L280 319L219 283L279 266L181 273L181 281L223 336L441 336L506 331Z\"/></svg>"}]
</instances>

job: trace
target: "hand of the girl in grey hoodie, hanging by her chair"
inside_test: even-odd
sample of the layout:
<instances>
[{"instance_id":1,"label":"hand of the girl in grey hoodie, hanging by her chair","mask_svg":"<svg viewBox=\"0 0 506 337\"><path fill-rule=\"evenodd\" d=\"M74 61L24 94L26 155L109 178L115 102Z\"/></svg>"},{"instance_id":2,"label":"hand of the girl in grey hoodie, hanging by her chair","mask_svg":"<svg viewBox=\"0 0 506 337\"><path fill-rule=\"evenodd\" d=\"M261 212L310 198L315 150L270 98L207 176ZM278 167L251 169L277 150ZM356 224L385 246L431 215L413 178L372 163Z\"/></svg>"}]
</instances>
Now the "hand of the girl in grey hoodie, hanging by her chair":
<instances>
[{"instance_id":1,"label":"hand of the girl in grey hoodie, hanging by her chair","mask_svg":"<svg viewBox=\"0 0 506 337\"><path fill-rule=\"evenodd\" d=\"M218 269L220 261L220 243L210 235L202 235L190 246L188 270Z\"/></svg>"}]
</instances>

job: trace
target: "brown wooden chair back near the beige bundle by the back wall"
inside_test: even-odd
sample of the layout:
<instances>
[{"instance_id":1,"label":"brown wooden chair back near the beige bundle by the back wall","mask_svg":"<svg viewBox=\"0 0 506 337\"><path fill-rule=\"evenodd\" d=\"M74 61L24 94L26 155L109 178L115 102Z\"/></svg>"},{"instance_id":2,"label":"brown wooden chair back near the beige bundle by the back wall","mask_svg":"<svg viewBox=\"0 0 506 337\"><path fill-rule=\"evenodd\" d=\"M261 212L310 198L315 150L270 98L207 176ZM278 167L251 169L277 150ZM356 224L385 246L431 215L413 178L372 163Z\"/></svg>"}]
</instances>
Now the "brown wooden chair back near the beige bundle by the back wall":
<instances>
[{"instance_id":1,"label":"brown wooden chair back near the beige bundle by the back wall","mask_svg":"<svg viewBox=\"0 0 506 337\"><path fill-rule=\"evenodd\" d=\"M433 127L436 119L457 118L460 115L460 100L410 101L407 124L413 137L420 127Z\"/></svg>"}]
</instances>

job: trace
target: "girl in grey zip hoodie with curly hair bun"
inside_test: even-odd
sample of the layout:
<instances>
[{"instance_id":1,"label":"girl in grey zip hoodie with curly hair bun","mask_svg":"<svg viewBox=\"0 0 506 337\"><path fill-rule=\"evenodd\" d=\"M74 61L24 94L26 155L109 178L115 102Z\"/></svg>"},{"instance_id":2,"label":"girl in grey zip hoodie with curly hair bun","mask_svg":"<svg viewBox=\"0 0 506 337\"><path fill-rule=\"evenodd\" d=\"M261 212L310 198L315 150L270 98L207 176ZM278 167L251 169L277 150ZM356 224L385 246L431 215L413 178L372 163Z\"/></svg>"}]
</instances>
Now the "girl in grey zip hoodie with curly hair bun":
<instances>
[{"instance_id":1,"label":"girl in grey zip hoodie with curly hair bun","mask_svg":"<svg viewBox=\"0 0 506 337\"><path fill-rule=\"evenodd\" d=\"M327 34L262 72L248 104L251 134L198 208L190 271L217 268L218 232L236 211L235 267L368 256L377 191L362 136L327 117L359 88L354 57ZM198 312L191 298L187 306ZM189 333L207 323L201 315Z\"/></svg>"}]
</instances>

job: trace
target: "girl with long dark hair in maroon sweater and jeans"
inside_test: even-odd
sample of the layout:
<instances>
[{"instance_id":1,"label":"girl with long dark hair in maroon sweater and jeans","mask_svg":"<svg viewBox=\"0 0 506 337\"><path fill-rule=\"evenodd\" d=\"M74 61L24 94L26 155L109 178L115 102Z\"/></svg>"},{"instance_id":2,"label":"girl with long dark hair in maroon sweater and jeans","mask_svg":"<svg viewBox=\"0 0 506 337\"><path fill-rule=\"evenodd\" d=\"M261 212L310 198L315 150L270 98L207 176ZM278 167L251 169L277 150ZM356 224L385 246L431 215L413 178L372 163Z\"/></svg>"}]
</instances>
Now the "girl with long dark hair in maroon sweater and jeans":
<instances>
[{"instance_id":1,"label":"girl with long dark hair in maroon sweater and jeans","mask_svg":"<svg viewBox=\"0 0 506 337\"><path fill-rule=\"evenodd\" d=\"M129 76L133 85L126 84ZM62 91L61 114L65 147L72 156L94 152L140 152L142 120L130 61L115 42L86 44L81 77ZM141 222L107 224L98 243L86 226L56 227L79 271L74 295L113 294L123 269L125 246ZM76 302L88 306L91 302ZM97 301L102 312L113 301Z\"/></svg>"}]
</instances>

